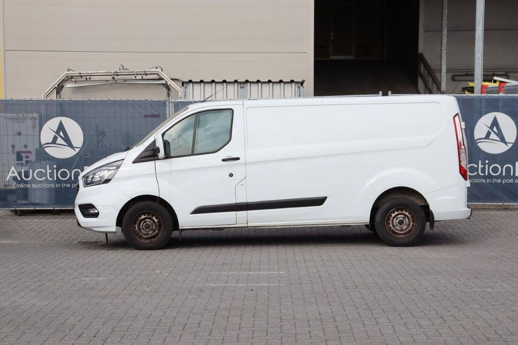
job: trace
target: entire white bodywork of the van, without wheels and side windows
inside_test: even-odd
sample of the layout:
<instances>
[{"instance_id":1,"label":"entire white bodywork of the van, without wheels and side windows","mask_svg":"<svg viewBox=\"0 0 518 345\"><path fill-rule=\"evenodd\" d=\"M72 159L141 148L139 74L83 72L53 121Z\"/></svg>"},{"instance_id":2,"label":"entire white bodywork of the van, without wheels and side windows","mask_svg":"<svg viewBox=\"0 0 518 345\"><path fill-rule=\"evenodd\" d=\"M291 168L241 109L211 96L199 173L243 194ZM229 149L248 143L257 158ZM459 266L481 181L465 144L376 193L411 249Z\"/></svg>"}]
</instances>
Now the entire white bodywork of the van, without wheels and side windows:
<instances>
[{"instance_id":1,"label":"entire white bodywork of the van, without wheels and side windows","mask_svg":"<svg viewBox=\"0 0 518 345\"><path fill-rule=\"evenodd\" d=\"M212 109L233 110L232 138L218 152L133 163L168 128ZM406 187L424 196L435 220L467 218L458 112L455 98L444 95L193 104L128 151L109 183L81 184L76 216L85 228L115 232L123 206L148 195L165 200L183 229L368 224L382 193ZM221 161L228 156L240 160ZM77 206L87 203L99 218L81 216ZM193 213L200 207L209 211Z\"/></svg>"}]
</instances>

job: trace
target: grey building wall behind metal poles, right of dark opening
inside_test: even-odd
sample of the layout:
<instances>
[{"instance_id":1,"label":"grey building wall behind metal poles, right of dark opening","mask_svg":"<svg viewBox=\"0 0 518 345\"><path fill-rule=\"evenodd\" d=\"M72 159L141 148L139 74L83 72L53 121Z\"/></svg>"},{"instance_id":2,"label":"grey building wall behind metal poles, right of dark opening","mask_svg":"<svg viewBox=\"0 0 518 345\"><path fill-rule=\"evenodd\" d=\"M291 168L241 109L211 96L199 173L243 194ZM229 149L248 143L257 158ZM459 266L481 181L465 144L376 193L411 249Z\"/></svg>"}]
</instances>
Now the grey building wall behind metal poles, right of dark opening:
<instances>
[{"instance_id":1,"label":"grey building wall behind metal poles, right of dark opening","mask_svg":"<svg viewBox=\"0 0 518 345\"><path fill-rule=\"evenodd\" d=\"M442 0L424 2L422 52L440 78ZM452 81L453 74L473 73L475 0L449 0L447 90L460 92L467 82ZM484 73L508 71L518 79L518 1L486 0Z\"/></svg>"}]
</instances>

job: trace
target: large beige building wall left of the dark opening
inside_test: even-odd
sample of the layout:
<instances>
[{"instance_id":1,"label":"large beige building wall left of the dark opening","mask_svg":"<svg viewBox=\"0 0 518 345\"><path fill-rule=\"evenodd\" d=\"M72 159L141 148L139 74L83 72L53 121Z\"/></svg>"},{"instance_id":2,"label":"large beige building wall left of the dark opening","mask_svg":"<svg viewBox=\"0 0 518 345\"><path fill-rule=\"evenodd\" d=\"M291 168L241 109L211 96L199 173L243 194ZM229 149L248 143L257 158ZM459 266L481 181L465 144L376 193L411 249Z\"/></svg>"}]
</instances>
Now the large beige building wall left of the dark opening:
<instances>
[{"instance_id":1,"label":"large beige building wall left of the dark opening","mask_svg":"<svg viewBox=\"0 0 518 345\"><path fill-rule=\"evenodd\" d=\"M182 80L305 79L313 92L313 0L1 1L4 97L39 98L67 67L120 64Z\"/></svg>"}]
</instances>

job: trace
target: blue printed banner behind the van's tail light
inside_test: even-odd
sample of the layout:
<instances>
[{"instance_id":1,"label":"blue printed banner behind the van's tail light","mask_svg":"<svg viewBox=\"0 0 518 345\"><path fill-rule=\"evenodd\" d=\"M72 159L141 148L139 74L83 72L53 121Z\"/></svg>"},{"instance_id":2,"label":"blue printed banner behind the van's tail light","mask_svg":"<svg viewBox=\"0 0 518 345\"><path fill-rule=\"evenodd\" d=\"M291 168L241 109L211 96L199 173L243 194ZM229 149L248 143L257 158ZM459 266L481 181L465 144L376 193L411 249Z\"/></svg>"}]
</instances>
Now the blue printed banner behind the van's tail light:
<instances>
[{"instance_id":1,"label":"blue printed banner behind the van's tail light","mask_svg":"<svg viewBox=\"0 0 518 345\"><path fill-rule=\"evenodd\" d=\"M456 96L466 123L469 203L518 203L518 96Z\"/></svg>"}]
</instances>

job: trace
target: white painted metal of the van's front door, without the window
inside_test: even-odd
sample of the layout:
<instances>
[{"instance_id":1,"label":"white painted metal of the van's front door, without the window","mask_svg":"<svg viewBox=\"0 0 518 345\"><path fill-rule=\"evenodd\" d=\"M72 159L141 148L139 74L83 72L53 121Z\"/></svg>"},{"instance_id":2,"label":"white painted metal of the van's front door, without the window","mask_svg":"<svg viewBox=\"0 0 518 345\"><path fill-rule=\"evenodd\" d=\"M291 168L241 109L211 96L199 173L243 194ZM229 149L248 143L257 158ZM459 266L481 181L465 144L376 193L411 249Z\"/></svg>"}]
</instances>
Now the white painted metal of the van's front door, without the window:
<instances>
[{"instance_id":1,"label":"white painted metal of the van's front door, without the window","mask_svg":"<svg viewBox=\"0 0 518 345\"><path fill-rule=\"evenodd\" d=\"M226 146L215 153L155 161L160 196L177 213L180 227L236 225L236 211L196 214L192 212L200 206L246 202L246 195L242 193L236 195L238 184L245 178L242 101L227 102L221 106L205 103L192 110L189 109L171 125L159 131L156 136L162 136L175 123L192 114L208 109L232 109L233 111L232 136ZM228 156L240 159L222 162L222 159ZM230 177L229 174L233 176ZM246 219L241 217L239 224L246 225Z\"/></svg>"}]
</instances>

